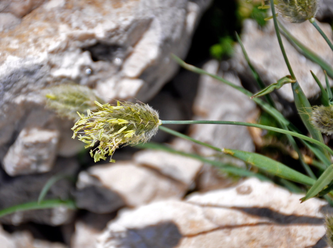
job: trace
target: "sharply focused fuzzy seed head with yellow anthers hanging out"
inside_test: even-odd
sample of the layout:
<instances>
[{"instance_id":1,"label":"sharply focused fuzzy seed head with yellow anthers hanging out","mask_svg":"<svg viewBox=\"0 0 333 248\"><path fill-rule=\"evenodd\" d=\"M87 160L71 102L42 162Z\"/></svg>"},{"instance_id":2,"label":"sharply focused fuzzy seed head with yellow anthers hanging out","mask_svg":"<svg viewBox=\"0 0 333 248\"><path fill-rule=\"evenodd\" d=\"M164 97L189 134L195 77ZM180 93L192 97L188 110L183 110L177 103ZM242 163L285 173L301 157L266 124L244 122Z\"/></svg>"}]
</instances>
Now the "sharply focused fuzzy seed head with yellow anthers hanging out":
<instances>
[{"instance_id":1,"label":"sharply focused fuzzy seed head with yellow anthers hanging out","mask_svg":"<svg viewBox=\"0 0 333 248\"><path fill-rule=\"evenodd\" d=\"M86 143L85 148L93 147L97 141L99 146L90 155L97 162L112 156L120 145L148 142L158 131L161 120L158 111L148 104L117 102L101 104L95 101L97 110L87 110L87 116L79 114L75 123L73 139L77 136ZM115 162L110 160L110 162Z\"/></svg>"}]
</instances>

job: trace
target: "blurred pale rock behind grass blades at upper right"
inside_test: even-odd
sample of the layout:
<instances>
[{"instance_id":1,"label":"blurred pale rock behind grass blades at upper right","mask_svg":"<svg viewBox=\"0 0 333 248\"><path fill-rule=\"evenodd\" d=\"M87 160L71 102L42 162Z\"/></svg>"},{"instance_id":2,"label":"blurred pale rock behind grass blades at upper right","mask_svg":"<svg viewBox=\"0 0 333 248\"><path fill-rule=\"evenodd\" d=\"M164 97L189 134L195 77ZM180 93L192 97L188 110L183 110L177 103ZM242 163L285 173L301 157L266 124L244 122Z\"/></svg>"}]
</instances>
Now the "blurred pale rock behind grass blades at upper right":
<instances>
[{"instance_id":1,"label":"blurred pale rock behind grass blades at upper right","mask_svg":"<svg viewBox=\"0 0 333 248\"><path fill-rule=\"evenodd\" d=\"M324 59L328 64L333 64L333 56L331 56L329 46L310 22L290 23L283 19L279 20L306 47ZM331 27L326 23L318 23L318 25L332 39ZM241 39L250 61L267 84L274 83L278 79L290 74L276 38L273 21L268 21L265 27L260 29L254 20L246 20L244 21L242 30ZM315 97L320 92L320 89L313 79L310 70L325 84L323 70L319 65L300 54L283 36L282 41L289 62L305 95L308 98ZM252 78L240 46L236 46L235 50L235 69L242 77ZM331 79L330 85L333 85ZM294 99L290 84L284 85L277 92L282 98L290 102Z\"/></svg>"}]
</instances>

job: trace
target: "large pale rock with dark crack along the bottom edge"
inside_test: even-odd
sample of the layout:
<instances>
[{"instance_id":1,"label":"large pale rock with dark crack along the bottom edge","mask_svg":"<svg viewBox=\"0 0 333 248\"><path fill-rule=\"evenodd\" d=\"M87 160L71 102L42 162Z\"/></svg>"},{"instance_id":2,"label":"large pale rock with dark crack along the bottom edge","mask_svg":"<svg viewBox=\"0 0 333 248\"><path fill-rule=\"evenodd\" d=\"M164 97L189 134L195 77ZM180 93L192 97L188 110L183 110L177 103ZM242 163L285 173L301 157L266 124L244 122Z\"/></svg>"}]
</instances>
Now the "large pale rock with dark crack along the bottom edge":
<instances>
[{"instance_id":1,"label":"large pale rock with dark crack along the bottom edge","mask_svg":"<svg viewBox=\"0 0 333 248\"><path fill-rule=\"evenodd\" d=\"M311 199L300 204L301 197L248 179L232 188L193 194L186 201L123 210L109 222L96 247L312 247L325 235L321 209L327 203Z\"/></svg>"}]
</instances>

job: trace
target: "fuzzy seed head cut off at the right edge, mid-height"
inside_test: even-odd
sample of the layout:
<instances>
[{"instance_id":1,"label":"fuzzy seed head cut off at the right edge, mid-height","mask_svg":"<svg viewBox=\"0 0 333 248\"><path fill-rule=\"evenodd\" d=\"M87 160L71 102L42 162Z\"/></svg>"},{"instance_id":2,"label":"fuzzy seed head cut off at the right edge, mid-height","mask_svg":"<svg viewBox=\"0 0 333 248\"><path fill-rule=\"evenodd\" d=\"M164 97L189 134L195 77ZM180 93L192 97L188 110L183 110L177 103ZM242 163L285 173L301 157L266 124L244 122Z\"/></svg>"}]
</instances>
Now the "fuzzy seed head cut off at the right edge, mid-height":
<instances>
[{"instance_id":1,"label":"fuzzy seed head cut off at the right edge, mid-height","mask_svg":"<svg viewBox=\"0 0 333 248\"><path fill-rule=\"evenodd\" d=\"M324 134L333 134L333 106L314 106L310 122L315 129Z\"/></svg>"}]
</instances>

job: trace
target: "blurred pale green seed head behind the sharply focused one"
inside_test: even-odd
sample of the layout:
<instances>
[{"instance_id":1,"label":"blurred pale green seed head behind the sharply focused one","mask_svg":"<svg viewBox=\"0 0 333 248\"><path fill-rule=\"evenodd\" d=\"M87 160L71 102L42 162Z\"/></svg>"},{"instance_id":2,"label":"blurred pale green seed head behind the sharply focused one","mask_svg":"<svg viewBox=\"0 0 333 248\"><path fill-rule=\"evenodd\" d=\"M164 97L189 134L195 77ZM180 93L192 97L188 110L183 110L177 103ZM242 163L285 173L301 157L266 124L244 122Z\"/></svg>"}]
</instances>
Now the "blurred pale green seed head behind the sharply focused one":
<instances>
[{"instance_id":1,"label":"blurred pale green seed head behind the sharply focused one","mask_svg":"<svg viewBox=\"0 0 333 248\"><path fill-rule=\"evenodd\" d=\"M84 85L60 84L46 89L46 106L59 116L77 120L77 112L85 112L88 108L95 110L94 101L101 101L95 92Z\"/></svg>"}]
</instances>

